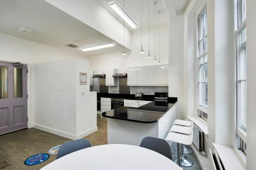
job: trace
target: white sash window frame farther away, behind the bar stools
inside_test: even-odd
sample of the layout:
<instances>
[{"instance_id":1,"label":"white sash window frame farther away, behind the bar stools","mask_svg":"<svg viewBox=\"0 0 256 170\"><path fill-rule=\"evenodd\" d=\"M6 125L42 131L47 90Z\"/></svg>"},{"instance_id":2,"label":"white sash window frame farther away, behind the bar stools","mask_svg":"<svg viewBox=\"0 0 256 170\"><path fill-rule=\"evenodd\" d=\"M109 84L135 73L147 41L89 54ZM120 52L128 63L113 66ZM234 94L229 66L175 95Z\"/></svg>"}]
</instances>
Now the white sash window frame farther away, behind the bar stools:
<instances>
[{"instance_id":1,"label":"white sash window frame farther away, behind the bar stools","mask_svg":"<svg viewBox=\"0 0 256 170\"><path fill-rule=\"evenodd\" d=\"M201 37L201 16L205 14L205 36ZM203 43L203 40L206 39L206 52L202 52L201 49L201 43ZM205 63L208 65L208 33L207 33L207 8L206 5L202 8L202 10L199 12L197 15L197 112L198 116L205 120L206 122L208 121L207 118L203 116L203 113L205 113L208 117L208 100L207 100L207 105L206 105L206 98L205 98L205 92L207 91L207 99L208 99L208 79L206 80L205 76ZM202 54L201 54L202 52ZM205 62L205 58L207 58L207 62ZM200 71L200 60L203 60L203 66L202 66L202 77L199 77L199 71ZM207 77L208 77L208 66L207 66ZM200 81L202 79L202 81ZM202 84L202 94L200 93L200 83ZM207 83L207 89L204 90L205 83ZM200 105L201 102L203 101L203 106ZM203 112L203 113L202 113Z\"/></svg>"}]
</instances>

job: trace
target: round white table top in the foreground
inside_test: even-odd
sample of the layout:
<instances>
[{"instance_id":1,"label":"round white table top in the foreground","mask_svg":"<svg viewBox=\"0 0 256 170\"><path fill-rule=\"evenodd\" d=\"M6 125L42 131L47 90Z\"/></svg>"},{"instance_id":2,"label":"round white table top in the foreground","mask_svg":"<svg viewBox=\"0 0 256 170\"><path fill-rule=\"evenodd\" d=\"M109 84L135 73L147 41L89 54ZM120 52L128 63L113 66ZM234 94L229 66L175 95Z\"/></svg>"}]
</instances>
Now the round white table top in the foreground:
<instances>
[{"instance_id":1,"label":"round white table top in the foreground","mask_svg":"<svg viewBox=\"0 0 256 170\"><path fill-rule=\"evenodd\" d=\"M176 163L155 151L128 144L105 144L82 149L63 156L41 169L182 170Z\"/></svg>"}]
</instances>

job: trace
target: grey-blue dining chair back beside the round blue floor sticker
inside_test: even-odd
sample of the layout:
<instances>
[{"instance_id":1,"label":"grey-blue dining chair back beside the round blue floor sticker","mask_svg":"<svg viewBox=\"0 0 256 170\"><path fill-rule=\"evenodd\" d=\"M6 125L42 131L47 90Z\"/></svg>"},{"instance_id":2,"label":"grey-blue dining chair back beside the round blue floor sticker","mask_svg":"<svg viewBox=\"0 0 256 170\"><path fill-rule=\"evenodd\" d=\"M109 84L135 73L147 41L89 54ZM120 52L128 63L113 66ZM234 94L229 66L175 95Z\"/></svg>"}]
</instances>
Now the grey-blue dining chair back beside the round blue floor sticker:
<instances>
[{"instance_id":1,"label":"grey-blue dining chair back beside the round blue floor sticker","mask_svg":"<svg viewBox=\"0 0 256 170\"><path fill-rule=\"evenodd\" d=\"M77 140L68 141L61 145L56 159L59 159L62 156L68 155L72 152L75 152L81 149L86 149L89 147L91 147L91 143L87 139L77 139Z\"/></svg>"}]
</instances>

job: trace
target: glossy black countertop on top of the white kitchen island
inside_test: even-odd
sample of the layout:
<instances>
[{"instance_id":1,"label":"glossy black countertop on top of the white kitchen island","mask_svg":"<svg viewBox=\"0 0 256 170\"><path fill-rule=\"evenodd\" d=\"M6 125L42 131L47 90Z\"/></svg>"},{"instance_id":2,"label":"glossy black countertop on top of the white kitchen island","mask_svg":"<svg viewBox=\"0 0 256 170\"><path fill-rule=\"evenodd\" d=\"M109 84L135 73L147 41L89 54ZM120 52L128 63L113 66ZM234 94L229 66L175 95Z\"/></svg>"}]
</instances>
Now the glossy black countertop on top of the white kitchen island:
<instances>
[{"instance_id":1,"label":"glossy black countertop on top of the white kitchen island","mask_svg":"<svg viewBox=\"0 0 256 170\"><path fill-rule=\"evenodd\" d=\"M174 106L175 102L153 101L138 108L134 107L119 107L107 112L103 112L102 116L137 122L143 124L156 123L158 120Z\"/></svg>"}]
</instances>

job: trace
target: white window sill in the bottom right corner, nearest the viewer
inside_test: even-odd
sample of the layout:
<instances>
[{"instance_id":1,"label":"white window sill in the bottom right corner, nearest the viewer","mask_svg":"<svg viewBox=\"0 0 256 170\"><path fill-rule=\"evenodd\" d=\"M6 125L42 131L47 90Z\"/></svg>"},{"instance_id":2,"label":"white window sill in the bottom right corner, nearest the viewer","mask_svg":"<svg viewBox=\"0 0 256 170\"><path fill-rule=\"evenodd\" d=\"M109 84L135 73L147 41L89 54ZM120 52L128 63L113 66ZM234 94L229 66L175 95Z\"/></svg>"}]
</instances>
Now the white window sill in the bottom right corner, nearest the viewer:
<instances>
[{"instance_id":1,"label":"white window sill in the bottom right corner, nearest the viewer","mask_svg":"<svg viewBox=\"0 0 256 170\"><path fill-rule=\"evenodd\" d=\"M246 161L242 158L241 155L237 154L234 148L216 143L212 144L214 145L214 148L226 170L246 169Z\"/></svg>"}]
</instances>

